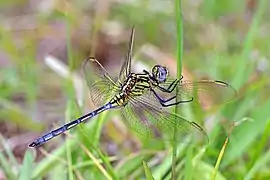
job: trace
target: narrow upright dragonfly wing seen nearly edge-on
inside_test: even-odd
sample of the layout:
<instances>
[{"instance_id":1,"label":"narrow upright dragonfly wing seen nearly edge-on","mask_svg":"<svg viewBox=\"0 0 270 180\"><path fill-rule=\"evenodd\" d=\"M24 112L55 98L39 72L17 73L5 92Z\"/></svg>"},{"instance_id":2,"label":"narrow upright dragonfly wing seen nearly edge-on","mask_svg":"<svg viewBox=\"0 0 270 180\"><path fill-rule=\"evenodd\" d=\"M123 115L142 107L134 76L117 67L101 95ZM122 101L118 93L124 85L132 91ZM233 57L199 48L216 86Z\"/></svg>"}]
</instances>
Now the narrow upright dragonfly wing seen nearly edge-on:
<instances>
[{"instance_id":1,"label":"narrow upright dragonfly wing seen nearly edge-on","mask_svg":"<svg viewBox=\"0 0 270 180\"><path fill-rule=\"evenodd\" d=\"M118 77L120 82L124 82L127 76L131 72L131 59L132 59L132 50L133 50L133 44L134 44L134 33L135 33L135 27L133 26L131 30L130 39L129 39L127 57L121 66L119 77Z\"/></svg>"}]
</instances>

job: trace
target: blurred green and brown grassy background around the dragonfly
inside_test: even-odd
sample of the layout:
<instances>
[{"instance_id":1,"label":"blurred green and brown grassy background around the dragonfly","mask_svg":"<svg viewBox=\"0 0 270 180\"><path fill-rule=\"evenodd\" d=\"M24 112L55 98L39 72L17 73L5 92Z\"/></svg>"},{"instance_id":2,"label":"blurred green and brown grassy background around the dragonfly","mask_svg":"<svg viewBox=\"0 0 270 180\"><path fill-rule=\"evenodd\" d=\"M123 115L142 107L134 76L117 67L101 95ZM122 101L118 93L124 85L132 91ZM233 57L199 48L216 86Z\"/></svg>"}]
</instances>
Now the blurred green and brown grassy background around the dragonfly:
<instances>
[{"instance_id":1,"label":"blurred green and brown grassy background around the dragonfly","mask_svg":"<svg viewBox=\"0 0 270 180\"><path fill-rule=\"evenodd\" d=\"M267 0L182 1L184 77L223 80L238 97L211 110L181 108L204 125L210 143L177 145L177 179L211 179L232 122L246 119L236 123L216 179L270 179L268 7ZM0 22L0 180L171 179L171 145L140 138L118 111L42 148L28 143L96 108L81 63L95 55L117 74L132 25L134 71L163 64L175 76L173 0L1 0Z\"/></svg>"}]
</instances>

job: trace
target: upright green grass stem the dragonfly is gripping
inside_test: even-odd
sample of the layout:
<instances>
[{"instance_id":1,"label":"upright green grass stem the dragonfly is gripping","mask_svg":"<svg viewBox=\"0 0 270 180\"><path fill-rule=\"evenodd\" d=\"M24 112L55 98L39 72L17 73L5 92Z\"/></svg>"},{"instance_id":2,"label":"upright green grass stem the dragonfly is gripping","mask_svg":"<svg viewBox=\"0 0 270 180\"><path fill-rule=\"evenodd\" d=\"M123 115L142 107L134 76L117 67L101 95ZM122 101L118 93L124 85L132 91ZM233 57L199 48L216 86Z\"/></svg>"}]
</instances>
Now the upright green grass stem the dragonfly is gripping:
<instances>
[{"instance_id":1,"label":"upright green grass stem the dragonfly is gripping","mask_svg":"<svg viewBox=\"0 0 270 180\"><path fill-rule=\"evenodd\" d=\"M182 7L181 0L175 0L175 14L176 14L176 29L177 29L177 77L181 77L182 73L182 57L183 57L183 20L182 20ZM177 101L177 98L176 98ZM178 106L175 106L174 112L178 114ZM175 136L175 128L173 129ZM171 179L176 179L176 161L177 161L177 145L176 142L173 142L173 152L172 152L172 174Z\"/></svg>"}]
</instances>

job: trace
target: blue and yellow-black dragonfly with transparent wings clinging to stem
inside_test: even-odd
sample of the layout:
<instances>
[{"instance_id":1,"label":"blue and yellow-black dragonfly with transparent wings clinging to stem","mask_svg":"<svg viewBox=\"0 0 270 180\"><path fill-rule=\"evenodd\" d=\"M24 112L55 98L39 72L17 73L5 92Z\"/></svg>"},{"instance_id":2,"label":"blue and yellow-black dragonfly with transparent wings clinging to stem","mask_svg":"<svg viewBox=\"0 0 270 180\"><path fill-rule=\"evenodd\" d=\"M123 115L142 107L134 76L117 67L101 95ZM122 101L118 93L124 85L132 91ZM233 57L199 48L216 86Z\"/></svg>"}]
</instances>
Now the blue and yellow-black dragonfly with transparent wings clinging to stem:
<instances>
[{"instance_id":1,"label":"blue and yellow-black dragonfly with transparent wings clinging to stem","mask_svg":"<svg viewBox=\"0 0 270 180\"><path fill-rule=\"evenodd\" d=\"M208 139L198 123L173 113L170 107L190 102L201 105L201 95L217 99L214 103L228 102L236 95L234 88L217 80L184 81L183 76L171 78L167 67L162 65L153 66L151 71L132 72L134 34L133 26L127 56L118 77L112 76L94 57L88 57L83 63L90 97L99 108L37 138L29 147L43 145L110 109L120 109L123 122L147 138L176 142L183 142L187 136Z\"/></svg>"}]
</instances>

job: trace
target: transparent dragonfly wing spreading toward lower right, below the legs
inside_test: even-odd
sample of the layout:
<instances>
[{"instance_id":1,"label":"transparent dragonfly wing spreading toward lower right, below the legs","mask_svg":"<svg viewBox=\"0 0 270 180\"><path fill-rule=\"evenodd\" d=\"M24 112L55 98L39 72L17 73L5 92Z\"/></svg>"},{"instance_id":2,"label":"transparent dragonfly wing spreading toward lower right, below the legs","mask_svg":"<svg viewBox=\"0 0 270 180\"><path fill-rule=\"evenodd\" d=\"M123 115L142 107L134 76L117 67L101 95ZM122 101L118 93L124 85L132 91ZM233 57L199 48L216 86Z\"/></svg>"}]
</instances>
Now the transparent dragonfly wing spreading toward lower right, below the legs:
<instances>
[{"instance_id":1,"label":"transparent dragonfly wing spreading toward lower right, below the legs","mask_svg":"<svg viewBox=\"0 0 270 180\"><path fill-rule=\"evenodd\" d=\"M189 136L193 141L208 140L198 124L167 112L154 98L151 92L131 97L121 109L125 124L147 138L185 142Z\"/></svg>"}]
</instances>

